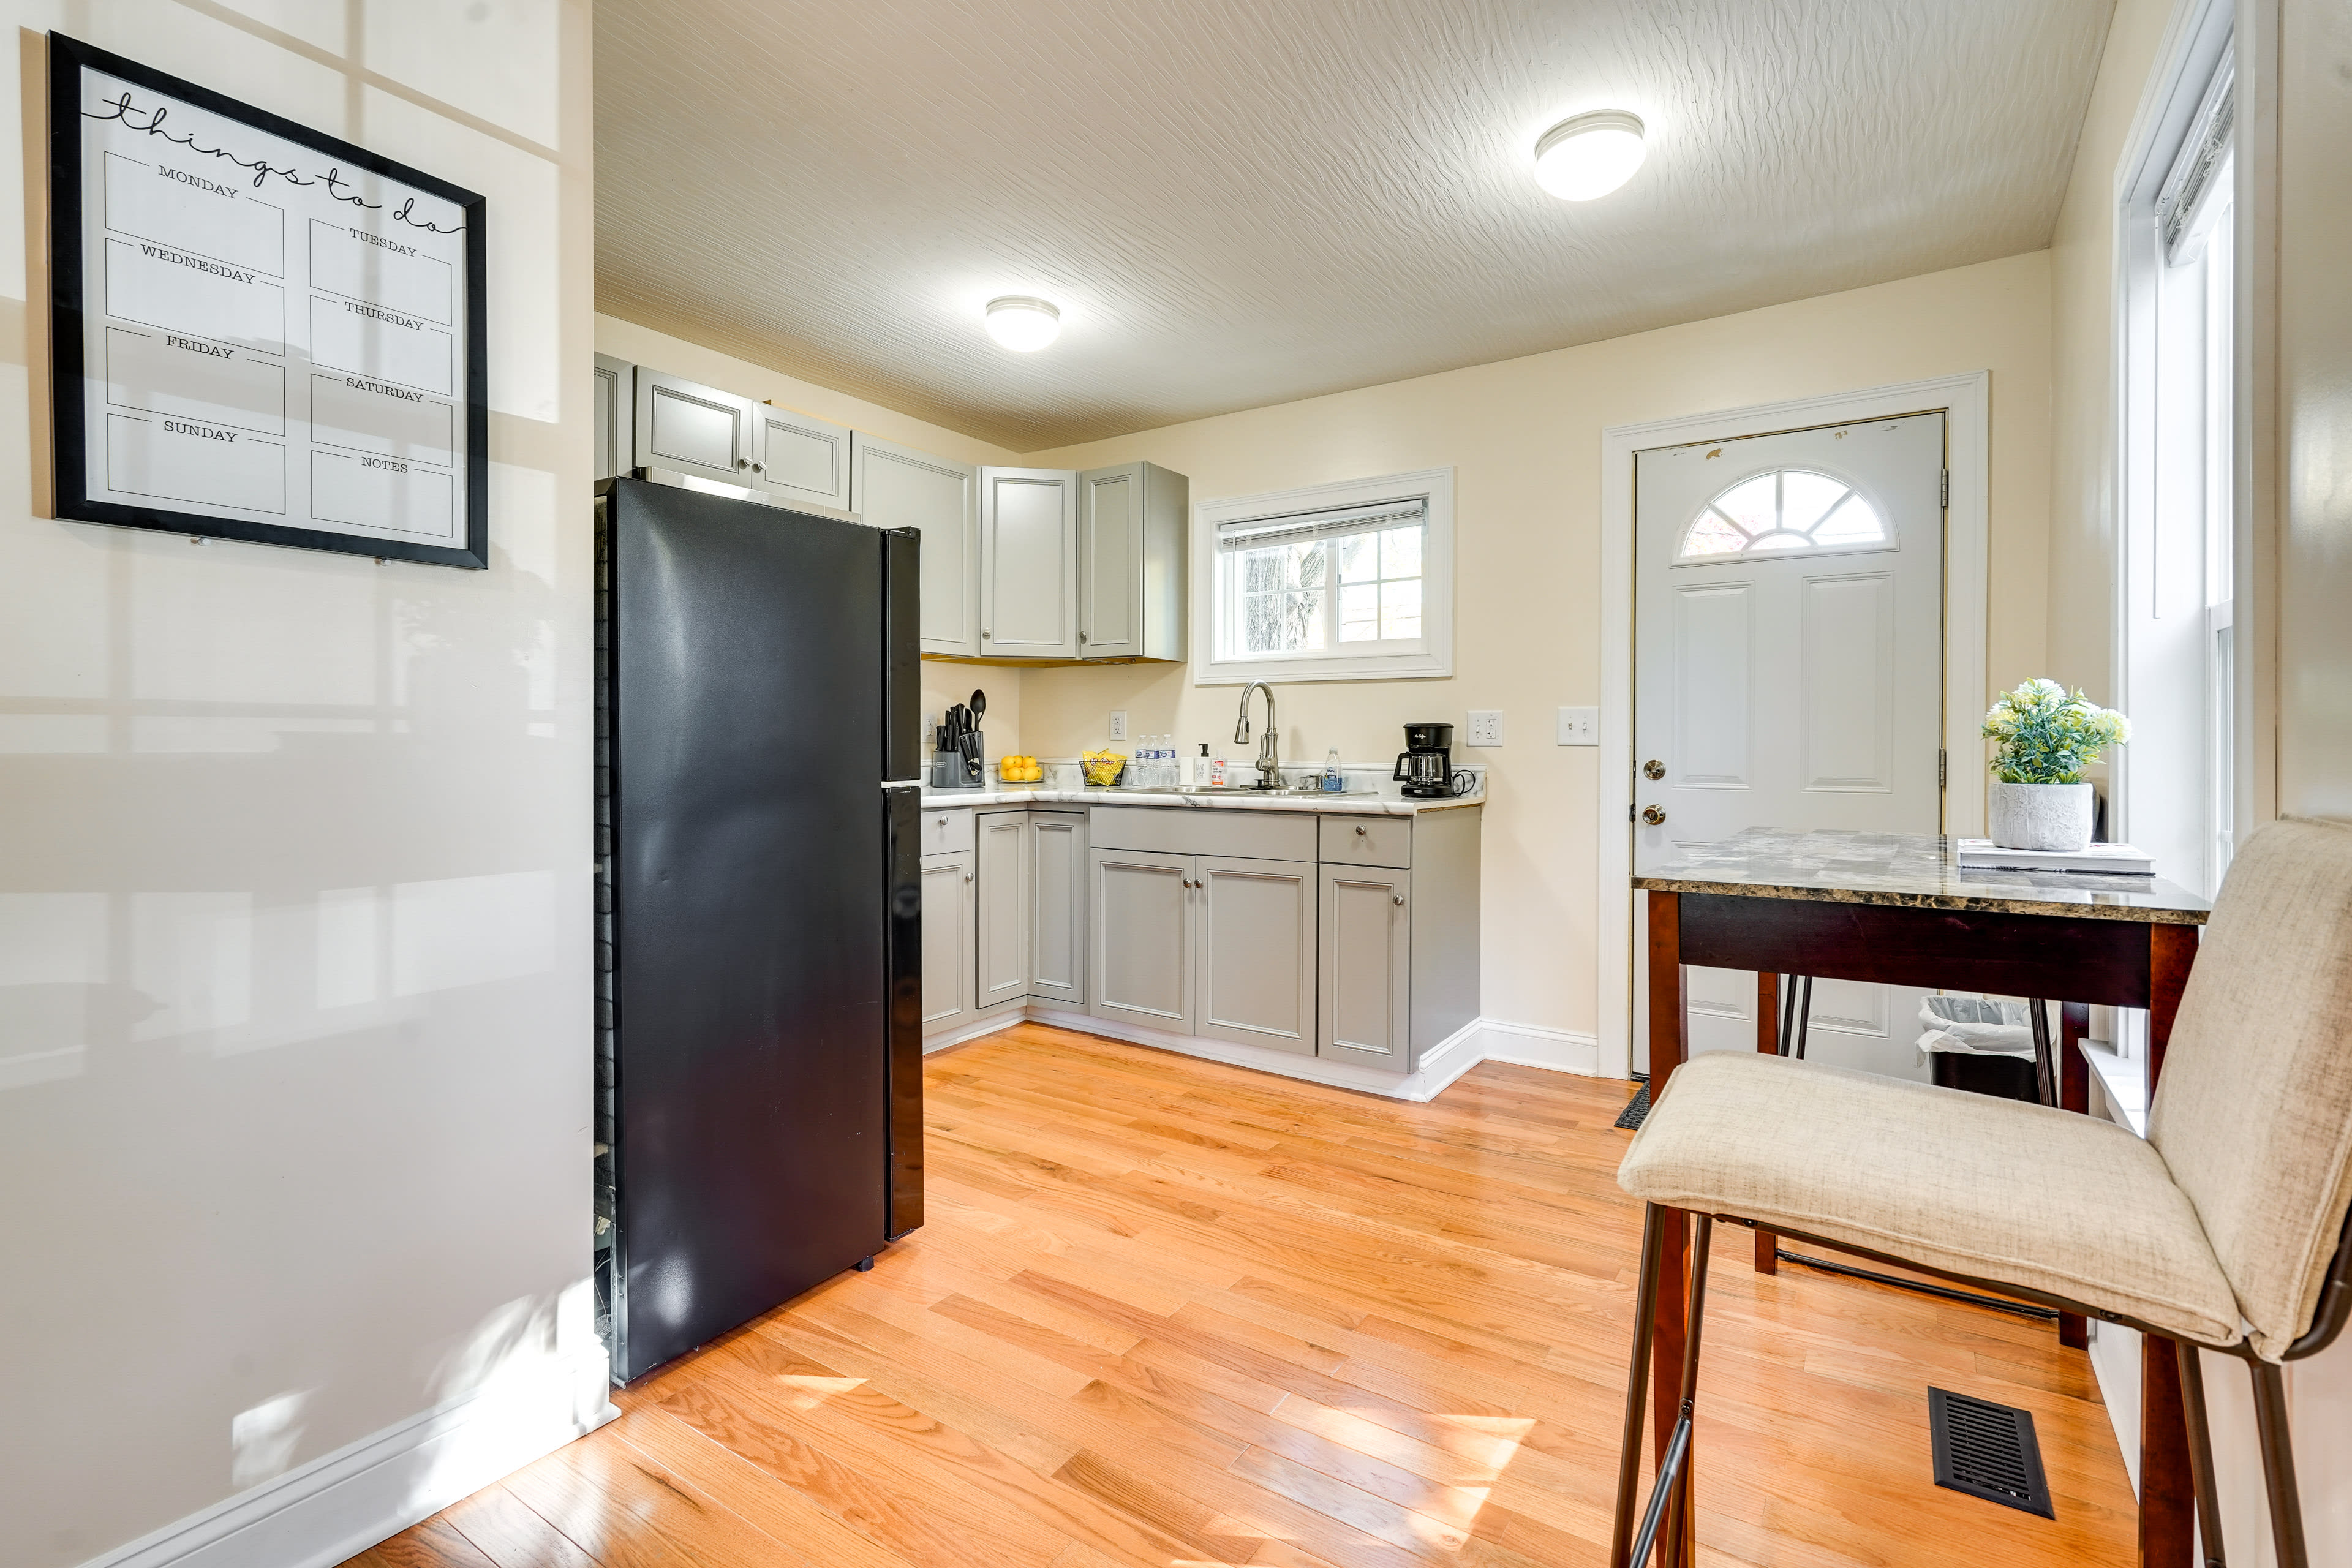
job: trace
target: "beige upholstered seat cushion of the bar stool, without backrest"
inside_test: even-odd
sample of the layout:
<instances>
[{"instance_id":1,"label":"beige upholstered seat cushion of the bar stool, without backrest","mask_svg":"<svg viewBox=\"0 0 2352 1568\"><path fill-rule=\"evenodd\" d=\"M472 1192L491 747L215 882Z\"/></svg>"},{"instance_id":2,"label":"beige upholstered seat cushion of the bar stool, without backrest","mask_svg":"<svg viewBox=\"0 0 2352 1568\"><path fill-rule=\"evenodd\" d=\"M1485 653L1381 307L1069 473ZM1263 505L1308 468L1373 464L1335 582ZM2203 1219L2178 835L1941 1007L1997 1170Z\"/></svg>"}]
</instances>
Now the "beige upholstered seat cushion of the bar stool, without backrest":
<instances>
[{"instance_id":1,"label":"beige upholstered seat cushion of the bar stool, without backrest","mask_svg":"<svg viewBox=\"0 0 2352 1568\"><path fill-rule=\"evenodd\" d=\"M1675 1070L1618 1185L2234 1345L2164 1161L2093 1117L1724 1051Z\"/></svg>"}]
</instances>

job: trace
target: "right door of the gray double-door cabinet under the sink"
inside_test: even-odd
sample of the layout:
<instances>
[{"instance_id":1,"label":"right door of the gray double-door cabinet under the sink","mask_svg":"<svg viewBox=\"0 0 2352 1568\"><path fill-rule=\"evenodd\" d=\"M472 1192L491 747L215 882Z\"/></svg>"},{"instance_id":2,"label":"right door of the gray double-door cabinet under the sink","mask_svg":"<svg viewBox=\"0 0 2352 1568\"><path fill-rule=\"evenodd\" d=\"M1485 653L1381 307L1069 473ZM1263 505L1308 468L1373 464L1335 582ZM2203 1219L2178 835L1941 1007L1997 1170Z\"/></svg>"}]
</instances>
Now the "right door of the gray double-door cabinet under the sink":
<instances>
[{"instance_id":1,"label":"right door of the gray double-door cabinet under the sink","mask_svg":"<svg viewBox=\"0 0 2352 1568\"><path fill-rule=\"evenodd\" d=\"M1315 1056L1315 863L1197 865L1197 1032Z\"/></svg>"}]
</instances>

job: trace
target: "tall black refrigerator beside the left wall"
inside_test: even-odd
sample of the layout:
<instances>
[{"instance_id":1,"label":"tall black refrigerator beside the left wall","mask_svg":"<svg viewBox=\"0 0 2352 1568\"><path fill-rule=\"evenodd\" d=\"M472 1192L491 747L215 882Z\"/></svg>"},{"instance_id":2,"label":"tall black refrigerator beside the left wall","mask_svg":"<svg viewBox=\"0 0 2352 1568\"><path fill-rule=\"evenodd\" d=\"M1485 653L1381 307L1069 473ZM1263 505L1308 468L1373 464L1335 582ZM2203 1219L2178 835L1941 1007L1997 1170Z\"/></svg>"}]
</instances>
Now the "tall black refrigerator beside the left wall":
<instances>
[{"instance_id":1,"label":"tall black refrigerator beside the left wall","mask_svg":"<svg viewBox=\"0 0 2352 1568\"><path fill-rule=\"evenodd\" d=\"M614 1382L922 1222L917 536L597 487Z\"/></svg>"}]
</instances>

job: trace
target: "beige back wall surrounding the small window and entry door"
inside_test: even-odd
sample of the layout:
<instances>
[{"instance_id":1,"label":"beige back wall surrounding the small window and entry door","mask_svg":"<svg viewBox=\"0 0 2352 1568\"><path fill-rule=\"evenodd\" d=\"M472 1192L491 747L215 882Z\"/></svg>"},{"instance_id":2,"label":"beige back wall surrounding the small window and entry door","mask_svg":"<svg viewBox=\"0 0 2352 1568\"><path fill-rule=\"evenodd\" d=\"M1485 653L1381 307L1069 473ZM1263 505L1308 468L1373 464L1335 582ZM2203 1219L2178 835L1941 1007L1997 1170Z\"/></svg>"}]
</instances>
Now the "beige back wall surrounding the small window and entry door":
<instances>
[{"instance_id":1,"label":"beige back wall surrounding the small window and entry door","mask_svg":"<svg viewBox=\"0 0 2352 1568\"><path fill-rule=\"evenodd\" d=\"M1150 458L1192 498L1458 470L1456 675L1282 686L1287 762L1381 762L1399 724L1501 708L1484 865L1489 1018L1590 1034L1597 1020L1597 750L1552 743L1555 708L1599 698L1602 428L1992 371L1990 677L2044 663L2049 515L2049 256L2037 252L1609 343L1482 364L1167 430L1028 454L1087 468ZM1183 668L1030 670L1023 738L1040 755L1131 733L1230 743L1235 686ZM1456 741L1461 733L1456 733Z\"/></svg>"}]
</instances>

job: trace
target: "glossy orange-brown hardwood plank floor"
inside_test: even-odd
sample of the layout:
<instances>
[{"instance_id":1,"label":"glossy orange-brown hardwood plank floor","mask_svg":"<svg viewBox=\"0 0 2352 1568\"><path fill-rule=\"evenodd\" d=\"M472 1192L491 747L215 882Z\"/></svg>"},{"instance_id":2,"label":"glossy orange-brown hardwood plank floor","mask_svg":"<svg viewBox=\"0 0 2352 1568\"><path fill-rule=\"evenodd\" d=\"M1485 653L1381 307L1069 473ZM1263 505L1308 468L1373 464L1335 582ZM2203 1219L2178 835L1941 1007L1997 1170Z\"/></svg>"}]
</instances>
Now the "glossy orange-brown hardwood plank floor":
<instances>
[{"instance_id":1,"label":"glossy orange-brown hardwood plank floor","mask_svg":"<svg viewBox=\"0 0 2352 1568\"><path fill-rule=\"evenodd\" d=\"M1397 1105L1023 1025L929 1063L929 1225L616 1394L365 1568L1604 1561L1639 1211L1625 1084ZM2082 1352L1710 1272L1700 1559L2131 1561ZM2034 1413L2058 1519L1929 1479L1926 1387Z\"/></svg>"}]
</instances>

